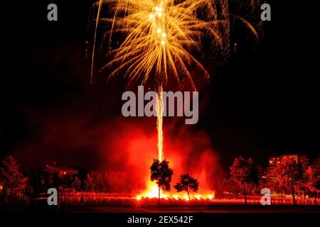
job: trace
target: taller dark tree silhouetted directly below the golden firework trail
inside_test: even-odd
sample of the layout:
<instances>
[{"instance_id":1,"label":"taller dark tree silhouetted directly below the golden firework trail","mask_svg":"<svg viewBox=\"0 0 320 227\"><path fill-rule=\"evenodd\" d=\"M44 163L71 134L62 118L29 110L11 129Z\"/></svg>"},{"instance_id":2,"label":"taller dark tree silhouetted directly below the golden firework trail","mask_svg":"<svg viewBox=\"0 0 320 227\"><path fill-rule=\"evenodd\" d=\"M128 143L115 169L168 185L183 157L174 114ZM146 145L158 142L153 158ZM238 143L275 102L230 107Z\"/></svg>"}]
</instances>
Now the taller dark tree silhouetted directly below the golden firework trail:
<instances>
[{"instance_id":1,"label":"taller dark tree silhouetted directly below the golden firework trail","mask_svg":"<svg viewBox=\"0 0 320 227\"><path fill-rule=\"evenodd\" d=\"M159 187L158 204L160 204L160 191L170 191L171 177L174 174L174 170L169 167L169 162L163 160L160 162L158 159L154 159L151 167L151 181L156 181Z\"/></svg>"}]
</instances>

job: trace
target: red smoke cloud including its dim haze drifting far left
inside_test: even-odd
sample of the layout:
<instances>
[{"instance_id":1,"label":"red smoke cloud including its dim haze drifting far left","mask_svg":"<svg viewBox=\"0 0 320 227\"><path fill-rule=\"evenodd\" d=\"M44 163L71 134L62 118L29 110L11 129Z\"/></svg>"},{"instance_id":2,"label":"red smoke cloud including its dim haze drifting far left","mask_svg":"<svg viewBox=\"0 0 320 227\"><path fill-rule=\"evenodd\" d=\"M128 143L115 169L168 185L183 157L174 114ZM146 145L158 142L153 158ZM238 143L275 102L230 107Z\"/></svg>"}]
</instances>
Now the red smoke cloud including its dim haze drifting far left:
<instances>
[{"instance_id":1,"label":"red smoke cloud including its dim haze drifting far left","mask_svg":"<svg viewBox=\"0 0 320 227\"><path fill-rule=\"evenodd\" d=\"M37 130L16 148L24 166L57 162L58 166L85 167L107 172L114 192L137 195L146 189L149 167L158 157L156 118L92 123L83 116L45 116L29 117ZM198 179L199 192L219 189L222 170L206 133L193 133L185 124L171 122L164 123L164 157L174 169L171 185L188 172Z\"/></svg>"}]
</instances>

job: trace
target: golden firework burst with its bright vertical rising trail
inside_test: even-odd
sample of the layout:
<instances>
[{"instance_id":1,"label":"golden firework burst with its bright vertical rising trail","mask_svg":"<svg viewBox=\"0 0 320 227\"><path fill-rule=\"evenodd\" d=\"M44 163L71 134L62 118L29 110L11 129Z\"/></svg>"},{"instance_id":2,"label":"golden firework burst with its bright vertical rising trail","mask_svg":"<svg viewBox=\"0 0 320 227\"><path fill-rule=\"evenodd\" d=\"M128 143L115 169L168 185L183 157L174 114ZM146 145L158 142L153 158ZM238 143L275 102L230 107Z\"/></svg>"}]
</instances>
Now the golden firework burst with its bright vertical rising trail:
<instances>
[{"instance_id":1,"label":"golden firework burst with its bright vertical rising trail","mask_svg":"<svg viewBox=\"0 0 320 227\"><path fill-rule=\"evenodd\" d=\"M100 18L101 6L106 4L112 16ZM145 84L156 82L158 92L157 130L159 160L164 159L161 92L169 80L179 86L196 90L191 70L208 79L209 73L194 52L203 50L202 43L210 40L211 47L228 55L230 49L230 13L227 0L100 0L96 21L107 25L106 36L123 39L116 48L110 47L111 60L102 68L111 70L108 79L117 74ZM255 33L245 20L243 23ZM95 43L94 48L95 50ZM93 55L92 69L93 74ZM193 71L194 72L194 71ZM152 75L152 77L151 77Z\"/></svg>"}]
</instances>

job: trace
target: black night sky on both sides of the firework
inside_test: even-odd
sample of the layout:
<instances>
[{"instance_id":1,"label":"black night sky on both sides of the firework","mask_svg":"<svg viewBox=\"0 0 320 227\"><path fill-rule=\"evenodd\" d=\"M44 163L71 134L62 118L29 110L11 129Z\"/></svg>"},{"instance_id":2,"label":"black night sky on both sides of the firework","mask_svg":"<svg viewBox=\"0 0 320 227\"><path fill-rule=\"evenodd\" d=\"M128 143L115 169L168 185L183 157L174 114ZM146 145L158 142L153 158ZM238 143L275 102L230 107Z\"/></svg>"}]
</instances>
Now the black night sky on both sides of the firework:
<instances>
[{"instance_id":1,"label":"black night sky on both sides of the firework","mask_svg":"<svg viewBox=\"0 0 320 227\"><path fill-rule=\"evenodd\" d=\"M58 22L46 21L49 2L58 5ZM262 165L272 153L319 155L316 14L309 4L266 2L272 6L272 21L265 22L262 42L252 48L250 41L236 36L238 50L217 67L200 91L208 101L191 130L208 134L225 167L239 155L253 157ZM1 26L1 158L14 154L23 165L35 165L34 160L28 162L23 149L45 138L47 124L52 123L50 133L68 131L65 136L73 143L82 132L55 128L55 123L71 127L85 118L85 130L90 131L91 124L112 121L121 114L123 81L105 84L99 74L95 84L89 83L85 41L89 41L90 58L92 32L87 31L87 21L91 4L32 0L4 6L8 15ZM56 144L52 149L68 150L68 146ZM72 164L94 167L99 156L87 160L83 149L70 155L70 160L78 160ZM50 162L50 157L45 161Z\"/></svg>"}]
</instances>

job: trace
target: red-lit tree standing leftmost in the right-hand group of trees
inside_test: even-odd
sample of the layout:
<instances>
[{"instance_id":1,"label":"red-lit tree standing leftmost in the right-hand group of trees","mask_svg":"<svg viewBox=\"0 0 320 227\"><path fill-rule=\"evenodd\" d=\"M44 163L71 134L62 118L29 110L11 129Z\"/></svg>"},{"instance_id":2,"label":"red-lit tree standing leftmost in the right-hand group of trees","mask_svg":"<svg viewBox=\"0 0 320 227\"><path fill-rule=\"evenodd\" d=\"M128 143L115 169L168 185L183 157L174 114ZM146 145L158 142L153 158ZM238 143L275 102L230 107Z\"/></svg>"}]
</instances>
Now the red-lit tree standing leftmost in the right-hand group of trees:
<instances>
[{"instance_id":1,"label":"red-lit tree standing leftmost in the right-hand group of trees","mask_svg":"<svg viewBox=\"0 0 320 227\"><path fill-rule=\"evenodd\" d=\"M245 160L243 157L235 158L233 165L230 167L231 179L243 187L245 194L245 204L247 204L247 184L255 183L259 179L257 167L254 165L252 158Z\"/></svg>"}]
</instances>

